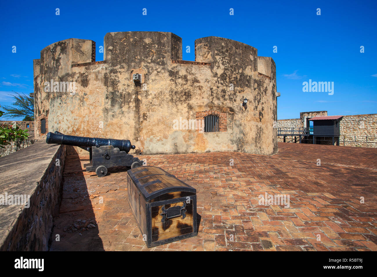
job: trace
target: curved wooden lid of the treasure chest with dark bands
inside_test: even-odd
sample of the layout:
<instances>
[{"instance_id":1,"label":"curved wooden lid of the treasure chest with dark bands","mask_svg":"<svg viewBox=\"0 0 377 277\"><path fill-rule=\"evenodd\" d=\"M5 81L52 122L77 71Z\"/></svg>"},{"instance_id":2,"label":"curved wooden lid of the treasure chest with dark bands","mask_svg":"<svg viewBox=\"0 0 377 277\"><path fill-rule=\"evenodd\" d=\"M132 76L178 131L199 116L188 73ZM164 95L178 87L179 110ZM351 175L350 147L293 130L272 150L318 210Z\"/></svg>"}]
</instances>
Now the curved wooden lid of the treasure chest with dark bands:
<instances>
[{"instance_id":1,"label":"curved wooden lid of the treasure chest with dark bands","mask_svg":"<svg viewBox=\"0 0 377 277\"><path fill-rule=\"evenodd\" d=\"M187 191L196 193L196 189L175 178L159 167L144 165L127 171L146 201L165 193Z\"/></svg>"}]
</instances>

